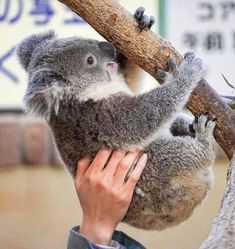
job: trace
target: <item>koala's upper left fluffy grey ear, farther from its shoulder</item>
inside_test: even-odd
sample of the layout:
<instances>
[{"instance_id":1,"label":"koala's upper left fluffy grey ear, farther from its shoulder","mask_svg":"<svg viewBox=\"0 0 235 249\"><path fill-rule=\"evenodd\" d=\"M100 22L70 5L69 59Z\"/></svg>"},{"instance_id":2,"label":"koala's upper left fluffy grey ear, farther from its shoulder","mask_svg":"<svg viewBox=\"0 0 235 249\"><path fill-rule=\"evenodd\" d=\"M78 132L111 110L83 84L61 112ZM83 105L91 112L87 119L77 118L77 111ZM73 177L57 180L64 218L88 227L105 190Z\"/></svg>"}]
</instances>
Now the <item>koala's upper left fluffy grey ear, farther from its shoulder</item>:
<instances>
[{"instance_id":1,"label":"koala's upper left fluffy grey ear, farther from its shoulder","mask_svg":"<svg viewBox=\"0 0 235 249\"><path fill-rule=\"evenodd\" d=\"M45 33L32 34L20 42L20 44L16 47L16 54L25 70L28 69L31 56L35 48L37 48L42 42L53 39L54 37L54 31L48 31Z\"/></svg>"}]
</instances>

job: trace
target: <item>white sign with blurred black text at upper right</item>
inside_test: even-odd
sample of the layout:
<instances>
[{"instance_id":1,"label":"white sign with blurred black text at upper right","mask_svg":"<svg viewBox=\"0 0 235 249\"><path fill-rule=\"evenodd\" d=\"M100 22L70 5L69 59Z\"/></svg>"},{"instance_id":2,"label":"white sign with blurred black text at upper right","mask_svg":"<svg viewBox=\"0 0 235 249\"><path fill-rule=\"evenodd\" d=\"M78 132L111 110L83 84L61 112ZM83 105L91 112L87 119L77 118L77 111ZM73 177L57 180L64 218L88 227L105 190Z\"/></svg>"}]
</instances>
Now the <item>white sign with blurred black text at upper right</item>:
<instances>
[{"instance_id":1,"label":"white sign with blurred black text at upper right","mask_svg":"<svg viewBox=\"0 0 235 249\"><path fill-rule=\"evenodd\" d=\"M166 38L181 53L195 51L206 64L206 79L219 93L234 95L235 1L166 0Z\"/></svg>"}]
</instances>

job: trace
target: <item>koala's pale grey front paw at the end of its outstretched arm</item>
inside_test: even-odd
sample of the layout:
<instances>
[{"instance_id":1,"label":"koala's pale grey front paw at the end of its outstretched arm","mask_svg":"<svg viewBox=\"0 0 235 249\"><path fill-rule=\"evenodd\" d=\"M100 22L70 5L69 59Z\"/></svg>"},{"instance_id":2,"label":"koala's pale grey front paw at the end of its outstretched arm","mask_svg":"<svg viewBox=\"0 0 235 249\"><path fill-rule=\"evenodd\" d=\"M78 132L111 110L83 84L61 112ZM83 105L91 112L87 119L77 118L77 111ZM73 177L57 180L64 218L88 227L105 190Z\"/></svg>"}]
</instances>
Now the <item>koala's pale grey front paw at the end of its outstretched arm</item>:
<instances>
[{"instance_id":1,"label":"koala's pale grey front paw at the end of its outstretched arm","mask_svg":"<svg viewBox=\"0 0 235 249\"><path fill-rule=\"evenodd\" d=\"M178 68L178 73L179 77L182 78L185 83L191 85L197 84L205 74L202 59L197 58L193 52L186 53Z\"/></svg>"}]
</instances>

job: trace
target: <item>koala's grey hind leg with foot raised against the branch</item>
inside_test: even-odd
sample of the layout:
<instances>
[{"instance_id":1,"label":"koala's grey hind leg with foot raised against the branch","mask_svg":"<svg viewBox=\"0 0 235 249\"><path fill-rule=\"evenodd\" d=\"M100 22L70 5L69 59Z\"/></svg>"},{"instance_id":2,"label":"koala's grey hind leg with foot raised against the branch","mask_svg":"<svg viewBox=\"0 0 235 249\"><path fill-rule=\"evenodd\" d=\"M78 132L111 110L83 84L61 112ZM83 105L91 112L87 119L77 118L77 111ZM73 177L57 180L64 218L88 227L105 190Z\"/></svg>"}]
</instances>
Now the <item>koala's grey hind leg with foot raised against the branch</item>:
<instances>
[{"instance_id":1,"label":"koala's grey hind leg with foot raised against the branch","mask_svg":"<svg viewBox=\"0 0 235 249\"><path fill-rule=\"evenodd\" d=\"M207 169L215 159L214 127L215 119L209 119L207 114L203 114L195 118L193 123L194 137L162 137L152 142L144 152L149 155L152 164L157 165L160 172L165 171L169 178L172 173L178 175L177 170Z\"/></svg>"}]
</instances>

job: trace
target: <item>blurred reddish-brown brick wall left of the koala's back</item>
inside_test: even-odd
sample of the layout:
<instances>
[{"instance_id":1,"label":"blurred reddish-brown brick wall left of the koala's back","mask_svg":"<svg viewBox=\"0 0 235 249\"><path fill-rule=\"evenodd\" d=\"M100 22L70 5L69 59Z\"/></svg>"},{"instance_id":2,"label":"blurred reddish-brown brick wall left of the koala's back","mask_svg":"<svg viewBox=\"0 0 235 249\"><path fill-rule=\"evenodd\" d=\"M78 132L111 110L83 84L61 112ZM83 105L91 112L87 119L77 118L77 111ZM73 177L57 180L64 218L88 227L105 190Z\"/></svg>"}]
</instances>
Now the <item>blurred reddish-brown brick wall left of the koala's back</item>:
<instances>
[{"instance_id":1,"label":"blurred reddish-brown brick wall left of the koala's back","mask_svg":"<svg viewBox=\"0 0 235 249\"><path fill-rule=\"evenodd\" d=\"M50 128L24 114L0 114L0 167L60 165Z\"/></svg>"}]
</instances>

